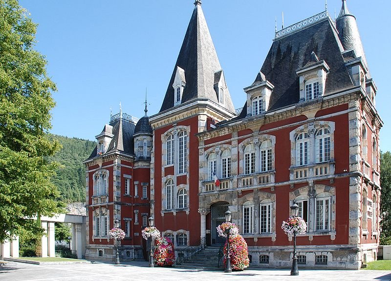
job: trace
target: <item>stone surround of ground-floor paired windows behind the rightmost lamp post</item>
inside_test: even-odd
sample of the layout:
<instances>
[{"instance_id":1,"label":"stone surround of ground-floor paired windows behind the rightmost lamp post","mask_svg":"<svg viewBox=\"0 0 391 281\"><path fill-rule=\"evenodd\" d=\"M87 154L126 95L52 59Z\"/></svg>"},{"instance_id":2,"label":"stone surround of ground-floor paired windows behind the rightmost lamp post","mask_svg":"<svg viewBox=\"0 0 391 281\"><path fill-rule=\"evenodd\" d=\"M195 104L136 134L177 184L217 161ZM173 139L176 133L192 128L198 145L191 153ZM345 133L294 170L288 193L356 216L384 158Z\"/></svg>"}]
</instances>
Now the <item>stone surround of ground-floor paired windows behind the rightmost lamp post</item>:
<instances>
[{"instance_id":1,"label":"stone surround of ground-floor paired windows behind the rightmost lamp post","mask_svg":"<svg viewBox=\"0 0 391 281\"><path fill-rule=\"evenodd\" d=\"M330 230L326 231L316 231L315 230L315 200L317 195L321 194L329 194L330 197ZM301 188L298 188L295 191L289 192L289 201L290 201L290 206L294 204L294 201L297 197L299 196L306 196L308 197L308 223L307 223L307 232L304 234L299 234L297 236L307 236L308 239L311 241L313 236L330 236L331 240L335 239L336 236L336 230L335 230L335 216L336 216L336 204L335 204L335 187L333 186L327 186L323 184L315 184L312 186L304 186ZM312 212L311 212L312 210ZM292 236L289 236L289 241L292 240Z\"/></svg>"}]
</instances>

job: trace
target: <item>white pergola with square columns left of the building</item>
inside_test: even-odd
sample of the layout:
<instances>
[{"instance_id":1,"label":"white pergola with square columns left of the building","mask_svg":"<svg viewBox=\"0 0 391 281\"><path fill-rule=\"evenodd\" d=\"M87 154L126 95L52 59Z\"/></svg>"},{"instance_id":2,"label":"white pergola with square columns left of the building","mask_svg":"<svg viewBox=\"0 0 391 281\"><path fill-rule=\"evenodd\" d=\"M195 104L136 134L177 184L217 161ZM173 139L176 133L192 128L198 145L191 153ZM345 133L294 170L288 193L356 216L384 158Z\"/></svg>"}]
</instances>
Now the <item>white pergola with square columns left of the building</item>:
<instances>
[{"instance_id":1,"label":"white pergola with square columns left of the building","mask_svg":"<svg viewBox=\"0 0 391 281\"><path fill-rule=\"evenodd\" d=\"M36 219L36 218L35 218ZM86 253L86 216L58 214L52 217L41 216L41 226L47 235L42 237L42 257L55 257L54 223L71 223L71 250L82 259ZM19 258L19 237L0 243L0 259Z\"/></svg>"}]
</instances>

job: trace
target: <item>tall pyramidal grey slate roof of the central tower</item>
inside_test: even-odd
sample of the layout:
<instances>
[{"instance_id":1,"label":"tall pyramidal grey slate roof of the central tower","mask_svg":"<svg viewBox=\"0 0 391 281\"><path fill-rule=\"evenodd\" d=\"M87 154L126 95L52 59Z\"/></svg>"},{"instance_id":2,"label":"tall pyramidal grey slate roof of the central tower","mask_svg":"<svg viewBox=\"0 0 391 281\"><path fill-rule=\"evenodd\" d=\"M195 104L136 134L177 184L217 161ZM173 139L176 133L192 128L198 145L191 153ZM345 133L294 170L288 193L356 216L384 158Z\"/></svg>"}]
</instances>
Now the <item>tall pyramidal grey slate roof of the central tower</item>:
<instances>
[{"instance_id":1,"label":"tall pyramidal grey slate roof of the central tower","mask_svg":"<svg viewBox=\"0 0 391 281\"><path fill-rule=\"evenodd\" d=\"M201 9L200 1L195 1L195 8L159 112L174 107L173 84L176 66L179 66L185 71L186 77L186 86L183 90L181 103L197 98L208 98L218 104L214 84L215 73L221 70L221 66ZM224 108L235 112L228 89L224 92Z\"/></svg>"}]
</instances>

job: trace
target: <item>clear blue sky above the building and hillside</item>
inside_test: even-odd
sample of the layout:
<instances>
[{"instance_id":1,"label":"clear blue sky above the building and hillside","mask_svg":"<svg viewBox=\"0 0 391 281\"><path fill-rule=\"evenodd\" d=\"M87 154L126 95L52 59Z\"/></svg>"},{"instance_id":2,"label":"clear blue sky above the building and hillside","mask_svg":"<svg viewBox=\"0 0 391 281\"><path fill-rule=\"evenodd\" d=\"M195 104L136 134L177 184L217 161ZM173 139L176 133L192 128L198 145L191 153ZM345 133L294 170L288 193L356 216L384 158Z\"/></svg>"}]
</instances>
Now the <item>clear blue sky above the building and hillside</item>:
<instances>
[{"instance_id":1,"label":"clear blue sky above the building and hillside","mask_svg":"<svg viewBox=\"0 0 391 281\"><path fill-rule=\"evenodd\" d=\"M194 0L20 0L38 23L36 49L46 56L47 71L57 84L51 130L94 140L110 108L138 118L160 109L174 69ZM337 16L341 0L328 0ZM356 16L371 75L378 87L376 107L385 126L380 148L391 151L387 81L391 65L388 0L348 0ZM284 13L285 27L325 10L324 0L203 0L220 64L236 108L243 88L254 81Z\"/></svg>"}]
</instances>

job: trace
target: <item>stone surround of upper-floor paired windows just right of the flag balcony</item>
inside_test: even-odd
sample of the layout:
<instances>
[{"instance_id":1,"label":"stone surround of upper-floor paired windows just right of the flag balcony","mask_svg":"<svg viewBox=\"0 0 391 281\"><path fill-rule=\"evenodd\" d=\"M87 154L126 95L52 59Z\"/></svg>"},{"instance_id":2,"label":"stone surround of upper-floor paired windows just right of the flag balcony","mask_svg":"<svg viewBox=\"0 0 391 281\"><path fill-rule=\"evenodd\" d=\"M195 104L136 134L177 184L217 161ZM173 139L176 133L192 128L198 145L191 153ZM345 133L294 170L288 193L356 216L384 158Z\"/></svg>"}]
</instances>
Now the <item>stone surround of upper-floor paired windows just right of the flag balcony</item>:
<instances>
[{"instance_id":1,"label":"stone surround of upper-floor paired windows just right of the flag balcony","mask_svg":"<svg viewBox=\"0 0 391 281\"><path fill-rule=\"evenodd\" d=\"M238 145L239 150L239 176L244 176L244 150L247 145L253 143L255 145L255 173L261 173L261 151L260 147L263 141L269 140L271 142L272 149L272 168L270 171L262 173L272 173L274 171L275 165L275 145L276 145L276 136L261 134L258 136L249 137L246 140L242 141Z\"/></svg>"}]
</instances>

